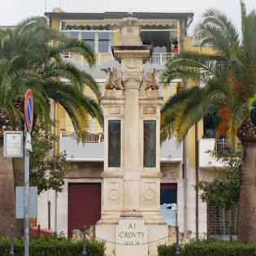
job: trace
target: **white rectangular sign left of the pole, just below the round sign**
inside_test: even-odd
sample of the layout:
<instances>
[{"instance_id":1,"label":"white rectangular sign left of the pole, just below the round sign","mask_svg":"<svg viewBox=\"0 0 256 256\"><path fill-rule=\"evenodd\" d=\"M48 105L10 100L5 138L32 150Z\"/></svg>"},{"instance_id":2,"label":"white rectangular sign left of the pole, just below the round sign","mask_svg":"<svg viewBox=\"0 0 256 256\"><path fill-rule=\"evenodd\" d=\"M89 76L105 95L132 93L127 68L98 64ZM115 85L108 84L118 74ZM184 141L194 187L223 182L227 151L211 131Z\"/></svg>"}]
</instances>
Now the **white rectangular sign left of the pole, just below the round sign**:
<instances>
[{"instance_id":1,"label":"white rectangular sign left of the pole, just below the round sign","mask_svg":"<svg viewBox=\"0 0 256 256\"><path fill-rule=\"evenodd\" d=\"M5 158L23 158L24 137L21 131L3 133L3 156Z\"/></svg>"}]
</instances>

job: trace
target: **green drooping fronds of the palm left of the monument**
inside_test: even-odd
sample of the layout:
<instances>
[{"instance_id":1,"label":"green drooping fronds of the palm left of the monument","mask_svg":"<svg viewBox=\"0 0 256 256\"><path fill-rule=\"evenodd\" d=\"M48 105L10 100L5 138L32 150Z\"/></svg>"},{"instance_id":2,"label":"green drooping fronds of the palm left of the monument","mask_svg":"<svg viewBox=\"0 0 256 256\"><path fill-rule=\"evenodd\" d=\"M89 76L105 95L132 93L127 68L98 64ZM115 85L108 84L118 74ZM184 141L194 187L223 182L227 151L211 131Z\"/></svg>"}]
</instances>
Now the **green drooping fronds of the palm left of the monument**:
<instances>
[{"instance_id":1,"label":"green drooping fronds of the palm left of the monument","mask_svg":"<svg viewBox=\"0 0 256 256\"><path fill-rule=\"evenodd\" d=\"M76 132L81 134L85 129L82 120L88 113L102 124L98 103L81 93L89 86L99 101L97 83L88 73L61 58L64 51L76 52L92 65L95 56L89 46L51 30L42 17L24 20L15 30L2 32L0 42L0 60L10 60L15 75L24 73L23 79L19 78L19 88L23 89L20 93L24 95L28 88L33 90L37 115L49 119L49 99L53 99L67 111Z\"/></svg>"}]
</instances>

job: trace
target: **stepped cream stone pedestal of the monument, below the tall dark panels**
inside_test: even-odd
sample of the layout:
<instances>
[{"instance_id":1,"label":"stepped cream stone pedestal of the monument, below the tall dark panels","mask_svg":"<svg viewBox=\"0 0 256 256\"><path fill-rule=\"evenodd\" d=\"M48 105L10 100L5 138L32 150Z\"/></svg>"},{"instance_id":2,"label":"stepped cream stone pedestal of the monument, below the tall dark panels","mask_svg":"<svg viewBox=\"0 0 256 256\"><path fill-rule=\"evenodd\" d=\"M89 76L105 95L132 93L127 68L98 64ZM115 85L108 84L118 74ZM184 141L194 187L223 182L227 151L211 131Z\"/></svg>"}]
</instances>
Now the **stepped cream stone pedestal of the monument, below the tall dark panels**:
<instances>
[{"instance_id":1,"label":"stepped cream stone pedestal of the monument, below the tall dark panels","mask_svg":"<svg viewBox=\"0 0 256 256\"><path fill-rule=\"evenodd\" d=\"M158 245L168 241L167 223L159 210L159 175L148 173L140 179L140 210L132 211L124 207L124 178L114 172L103 175L102 219L96 226L97 238L105 241L106 256L157 256Z\"/></svg>"}]
</instances>

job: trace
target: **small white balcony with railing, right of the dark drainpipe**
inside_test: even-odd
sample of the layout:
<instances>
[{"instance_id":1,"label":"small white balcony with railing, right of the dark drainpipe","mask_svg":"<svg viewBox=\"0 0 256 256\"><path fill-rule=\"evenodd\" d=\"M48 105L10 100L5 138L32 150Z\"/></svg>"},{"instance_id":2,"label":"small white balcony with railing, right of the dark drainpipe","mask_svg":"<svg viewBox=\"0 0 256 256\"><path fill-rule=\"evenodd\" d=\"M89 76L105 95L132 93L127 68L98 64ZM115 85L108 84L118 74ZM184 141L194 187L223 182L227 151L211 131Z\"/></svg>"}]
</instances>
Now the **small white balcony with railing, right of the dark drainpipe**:
<instances>
[{"instance_id":1,"label":"small white balcony with railing, right of the dark drainpipe","mask_svg":"<svg viewBox=\"0 0 256 256\"><path fill-rule=\"evenodd\" d=\"M227 153L227 140L220 139L215 142L215 139L201 139L199 141L199 167L224 167L224 163L221 159L217 159L213 153L217 156L221 156L223 153Z\"/></svg>"}]
</instances>

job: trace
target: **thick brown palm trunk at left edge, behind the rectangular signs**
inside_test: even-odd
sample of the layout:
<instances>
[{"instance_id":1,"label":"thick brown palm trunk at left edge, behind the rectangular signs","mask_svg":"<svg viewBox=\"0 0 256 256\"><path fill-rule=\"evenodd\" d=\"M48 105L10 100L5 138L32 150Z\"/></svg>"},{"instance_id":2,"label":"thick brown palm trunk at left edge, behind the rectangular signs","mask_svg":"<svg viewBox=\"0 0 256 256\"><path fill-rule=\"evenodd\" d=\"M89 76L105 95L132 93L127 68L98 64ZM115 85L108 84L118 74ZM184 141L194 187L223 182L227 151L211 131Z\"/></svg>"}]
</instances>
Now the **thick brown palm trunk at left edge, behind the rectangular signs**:
<instances>
[{"instance_id":1,"label":"thick brown palm trunk at left edge, behind the rectangular signs","mask_svg":"<svg viewBox=\"0 0 256 256\"><path fill-rule=\"evenodd\" d=\"M11 236L15 223L14 176L11 158L3 158L0 141L0 236Z\"/></svg>"}]
</instances>

